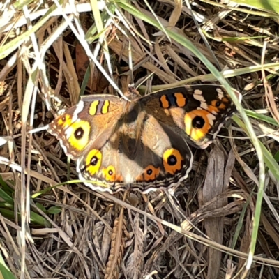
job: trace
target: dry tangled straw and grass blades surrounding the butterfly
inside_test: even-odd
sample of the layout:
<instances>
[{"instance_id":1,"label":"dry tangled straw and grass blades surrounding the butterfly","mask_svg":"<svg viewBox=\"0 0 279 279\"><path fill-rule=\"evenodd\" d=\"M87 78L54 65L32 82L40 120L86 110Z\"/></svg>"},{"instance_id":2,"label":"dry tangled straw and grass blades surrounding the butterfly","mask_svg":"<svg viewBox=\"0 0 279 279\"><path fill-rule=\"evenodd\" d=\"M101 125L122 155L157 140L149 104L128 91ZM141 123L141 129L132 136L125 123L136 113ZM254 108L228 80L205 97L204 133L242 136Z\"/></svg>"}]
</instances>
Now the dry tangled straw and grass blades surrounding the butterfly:
<instances>
[{"instance_id":1,"label":"dry tangled straw and grass blades surrounding the butterfly","mask_svg":"<svg viewBox=\"0 0 279 279\"><path fill-rule=\"evenodd\" d=\"M149 2L0 3L0 278L278 278L278 6L198 1L195 23L184 2ZM80 92L223 83L213 66L253 129L234 116L229 139L193 149L174 196L66 183L59 142L27 133Z\"/></svg>"}]
</instances>

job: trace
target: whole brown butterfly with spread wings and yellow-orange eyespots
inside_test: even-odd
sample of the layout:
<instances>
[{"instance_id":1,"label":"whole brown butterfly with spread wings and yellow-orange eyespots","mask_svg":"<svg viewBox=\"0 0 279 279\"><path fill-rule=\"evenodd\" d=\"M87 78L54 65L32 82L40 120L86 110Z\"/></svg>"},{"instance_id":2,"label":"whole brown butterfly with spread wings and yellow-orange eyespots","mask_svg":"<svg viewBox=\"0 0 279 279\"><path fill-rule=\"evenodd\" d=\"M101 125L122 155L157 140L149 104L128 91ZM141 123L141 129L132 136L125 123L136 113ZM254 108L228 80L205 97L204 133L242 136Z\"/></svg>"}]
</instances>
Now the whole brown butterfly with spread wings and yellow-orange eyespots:
<instances>
[{"instance_id":1,"label":"whole brown butterfly with spread wings and yellow-orange eyespots","mask_svg":"<svg viewBox=\"0 0 279 279\"><path fill-rule=\"evenodd\" d=\"M128 98L85 96L48 128L93 190L115 193L129 186L148 193L178 185L193 163L187 143L206 148L236 110L220 86Z\"/></svg>"}]
</instances>

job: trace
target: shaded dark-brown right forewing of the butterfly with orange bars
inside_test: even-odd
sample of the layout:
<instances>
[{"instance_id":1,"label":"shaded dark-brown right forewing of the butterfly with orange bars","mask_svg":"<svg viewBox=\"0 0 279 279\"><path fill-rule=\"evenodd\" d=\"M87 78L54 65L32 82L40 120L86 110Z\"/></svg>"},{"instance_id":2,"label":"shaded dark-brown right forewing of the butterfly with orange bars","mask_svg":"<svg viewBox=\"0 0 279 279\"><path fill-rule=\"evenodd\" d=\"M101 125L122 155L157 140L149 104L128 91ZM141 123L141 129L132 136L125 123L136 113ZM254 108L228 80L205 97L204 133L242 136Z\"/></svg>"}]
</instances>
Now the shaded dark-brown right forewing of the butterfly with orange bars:
<instances>
[{"instance_id":1,"label":"shaded dark-brown right forewing of the butterfly with orange bars","mask_svg":"<svg viewBox=\"0 0 279 279\"><path fill-rule=\"evenodd\" d=\"M241 100L241 94L235 91ZM193 85L167 89L140 100L144 110L160 119L195 147L205 149L236 107L222 86Z\"/></svg>"}]
</instances>

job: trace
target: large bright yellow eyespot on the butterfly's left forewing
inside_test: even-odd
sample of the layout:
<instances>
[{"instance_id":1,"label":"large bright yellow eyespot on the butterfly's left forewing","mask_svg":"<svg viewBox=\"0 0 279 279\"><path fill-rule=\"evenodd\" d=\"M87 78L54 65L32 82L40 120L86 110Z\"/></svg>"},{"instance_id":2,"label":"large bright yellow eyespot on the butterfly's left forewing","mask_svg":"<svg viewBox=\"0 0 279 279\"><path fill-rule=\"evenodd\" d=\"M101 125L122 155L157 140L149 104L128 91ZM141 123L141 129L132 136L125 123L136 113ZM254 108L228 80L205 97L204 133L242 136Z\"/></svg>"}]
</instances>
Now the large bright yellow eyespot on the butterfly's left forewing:
<instances>
[{"instance_id":1,"label":"large bright yellow eyespot on the butterfly's left forewing","mask_svg":"<svg viewBox=\"0 0 279 279\"><path fill-rule=\"evenodd\" d=\"M90 123L85 120L77 120L65 131L70 146L81 151L89 143Z\"/></svg>"}]
</instances>

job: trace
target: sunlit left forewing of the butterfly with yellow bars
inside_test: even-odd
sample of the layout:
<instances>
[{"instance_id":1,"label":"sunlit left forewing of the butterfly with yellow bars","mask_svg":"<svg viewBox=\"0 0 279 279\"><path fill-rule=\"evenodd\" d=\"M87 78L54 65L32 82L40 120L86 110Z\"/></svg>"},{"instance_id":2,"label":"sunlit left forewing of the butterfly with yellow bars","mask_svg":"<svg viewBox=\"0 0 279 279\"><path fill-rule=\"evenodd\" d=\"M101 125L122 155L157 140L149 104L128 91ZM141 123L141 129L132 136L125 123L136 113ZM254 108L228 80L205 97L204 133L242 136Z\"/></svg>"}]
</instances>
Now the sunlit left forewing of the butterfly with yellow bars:
<instances>
[{"instance_id":1,"label":"sunlit left forewing of the butterfly with yellow bars","mask_svg":"<svg viewBox=\"0 0 279 279\"><path fill-rule=\"evenodd\" d=\"M56 117L47 131L60 141L67 156L77 160L104 130L116 125L125 102L110 95L84 96Z\"/></svg>"}]
</instances>

